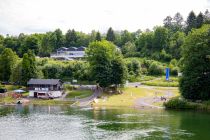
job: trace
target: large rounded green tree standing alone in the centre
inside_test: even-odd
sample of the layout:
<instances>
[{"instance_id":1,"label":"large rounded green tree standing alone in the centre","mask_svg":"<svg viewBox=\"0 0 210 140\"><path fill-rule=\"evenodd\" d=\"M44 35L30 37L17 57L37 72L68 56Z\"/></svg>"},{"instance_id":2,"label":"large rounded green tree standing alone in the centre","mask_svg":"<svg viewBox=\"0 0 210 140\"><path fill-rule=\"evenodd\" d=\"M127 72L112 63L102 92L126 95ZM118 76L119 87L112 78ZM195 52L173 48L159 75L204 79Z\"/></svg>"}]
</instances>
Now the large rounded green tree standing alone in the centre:
<instances>
[{"instance_id":1,"label":"large rounded green tree standing alone in the centre","mask_svg":"<svg viewBox=\"0 0 210 140\"><path fill-rule=\"evenodd\" d=\"M121 53L108 41L96 41L86 50L92 76L102 87L122 84L126 78L126 69ZM116 71L118 70L118 71Z\"/></svg>"}]
</instances>

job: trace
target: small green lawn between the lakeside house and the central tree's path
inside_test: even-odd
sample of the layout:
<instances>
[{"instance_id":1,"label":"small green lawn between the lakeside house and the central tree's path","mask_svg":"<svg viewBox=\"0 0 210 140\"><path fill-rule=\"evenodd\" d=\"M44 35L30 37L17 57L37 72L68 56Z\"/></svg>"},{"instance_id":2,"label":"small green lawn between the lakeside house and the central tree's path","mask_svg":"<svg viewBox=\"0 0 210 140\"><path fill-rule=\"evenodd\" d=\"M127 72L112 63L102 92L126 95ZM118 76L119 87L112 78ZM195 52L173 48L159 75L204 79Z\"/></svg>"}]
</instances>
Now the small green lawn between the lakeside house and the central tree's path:
<instances>
[{"instance_id":1,"label":"small green lawn between the lakeside house and the central tree's path","mask_svg":"<svg viewBox=\"0 0 210 140\"><path fill-rule=\"evenodd\" d=\"M68 92L66 98L85 98L91 96L92 94L93 91L91 90L73 90Z\"/></svg>"}]
</instances>

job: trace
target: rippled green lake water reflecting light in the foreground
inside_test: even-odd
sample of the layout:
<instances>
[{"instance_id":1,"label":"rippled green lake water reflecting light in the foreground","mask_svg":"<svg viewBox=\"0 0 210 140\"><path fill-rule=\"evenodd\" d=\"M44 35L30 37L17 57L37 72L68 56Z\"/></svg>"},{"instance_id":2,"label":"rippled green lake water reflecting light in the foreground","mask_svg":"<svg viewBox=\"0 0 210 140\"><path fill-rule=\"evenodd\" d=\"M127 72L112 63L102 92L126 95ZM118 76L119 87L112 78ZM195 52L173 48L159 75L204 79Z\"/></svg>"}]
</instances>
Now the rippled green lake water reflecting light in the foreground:
<instances>
[{"instance_id":1,"label":"rippled green lake water reflecting light in the foreground","mask_svg":"<svg viewBox=\"0 0 210 140\"><path fill-rule=\"evenodd\" d=\"M210 140L210 114L131 108L0 107L0 140Z\"/></svg>"}]
</instances>

